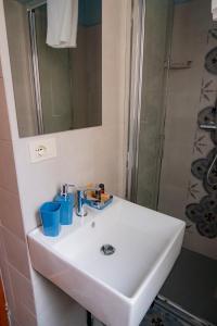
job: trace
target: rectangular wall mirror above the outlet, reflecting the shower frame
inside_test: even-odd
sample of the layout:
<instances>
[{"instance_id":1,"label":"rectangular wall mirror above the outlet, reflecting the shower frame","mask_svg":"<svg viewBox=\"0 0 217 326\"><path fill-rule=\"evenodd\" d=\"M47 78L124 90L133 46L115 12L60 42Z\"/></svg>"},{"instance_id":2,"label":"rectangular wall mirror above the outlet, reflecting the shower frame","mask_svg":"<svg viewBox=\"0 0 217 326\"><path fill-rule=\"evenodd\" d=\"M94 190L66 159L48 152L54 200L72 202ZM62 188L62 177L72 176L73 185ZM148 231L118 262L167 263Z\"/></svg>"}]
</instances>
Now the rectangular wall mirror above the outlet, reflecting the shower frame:
<instances>
[{"instance_id":1,"label":"rectangular wall mirror above the outlet, reflecting the shower frame","mask_svg":"<svg viewBox=\"0 0 217 326\"><path fill-rule=\"evenodd\" d=\"M77 47L65 49L46 43L46 1L4 8L20 137L101 125L102 0L79 0Z\"/></svg>"}]
</instances>

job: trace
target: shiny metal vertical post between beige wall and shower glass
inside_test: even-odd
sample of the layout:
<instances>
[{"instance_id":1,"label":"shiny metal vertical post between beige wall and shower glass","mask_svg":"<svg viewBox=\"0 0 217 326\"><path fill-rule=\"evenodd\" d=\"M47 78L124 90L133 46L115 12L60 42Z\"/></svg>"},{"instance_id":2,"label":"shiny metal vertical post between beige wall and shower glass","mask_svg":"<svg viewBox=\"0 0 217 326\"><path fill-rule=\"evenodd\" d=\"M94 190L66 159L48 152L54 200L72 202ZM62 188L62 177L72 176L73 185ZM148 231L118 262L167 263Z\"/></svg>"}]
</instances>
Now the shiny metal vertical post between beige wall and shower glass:
<instances>
[{"instance_id":1,"label":"shiny metal vertical post between beige wall and shower glass","mask_svg":"<svg viewBox=\"0 0 217 326\"><path fill-rule=\"evenodd\" d=\"M126 198L137 199L145 0L132 0Z\"/></svg>"}]
</instances>

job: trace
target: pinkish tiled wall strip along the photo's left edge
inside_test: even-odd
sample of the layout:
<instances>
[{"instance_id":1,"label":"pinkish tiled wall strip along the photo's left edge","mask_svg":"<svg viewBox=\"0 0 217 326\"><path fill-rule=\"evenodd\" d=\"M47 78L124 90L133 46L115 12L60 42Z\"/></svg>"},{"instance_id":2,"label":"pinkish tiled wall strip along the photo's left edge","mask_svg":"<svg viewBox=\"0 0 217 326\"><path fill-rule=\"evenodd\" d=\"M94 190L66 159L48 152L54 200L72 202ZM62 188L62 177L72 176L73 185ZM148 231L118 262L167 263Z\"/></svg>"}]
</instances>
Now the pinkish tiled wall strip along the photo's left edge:
<instances>
[{"instance_id":1,"label":"pinkish tiled wall strip along the photo's left edge","mask_svg":"<svg viewBox=\"0 0 217 326\"><path fill-rule=\"evenodd\" d=\"M12 326L36 325L3 77L0 70L0 269Z\"/></svg>"}]
</instances>

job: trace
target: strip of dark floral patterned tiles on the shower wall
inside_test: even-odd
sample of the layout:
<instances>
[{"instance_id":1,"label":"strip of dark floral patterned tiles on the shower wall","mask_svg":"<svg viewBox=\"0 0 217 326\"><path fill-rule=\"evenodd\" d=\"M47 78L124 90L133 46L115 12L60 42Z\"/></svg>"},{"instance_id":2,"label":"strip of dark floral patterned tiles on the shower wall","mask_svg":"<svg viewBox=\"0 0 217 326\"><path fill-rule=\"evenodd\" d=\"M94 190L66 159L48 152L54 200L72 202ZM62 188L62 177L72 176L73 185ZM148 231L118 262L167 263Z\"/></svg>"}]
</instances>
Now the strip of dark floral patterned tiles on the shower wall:
<instances>
[{"instance_id":1,"label":"strip of dark floral patterned tiles on the shower wall","mask_svg":"<svg viewBox=\"0 0 217 326\"><path fill-rule=\"evenodd\" d=\"M189 230L217 238L217 28L207 33L186 215ZM202 125L208 126L201 129ZM193 228L192 228L193 227ZM191 229L191 230L190 230Z\"/></svg>"}]
</instances>

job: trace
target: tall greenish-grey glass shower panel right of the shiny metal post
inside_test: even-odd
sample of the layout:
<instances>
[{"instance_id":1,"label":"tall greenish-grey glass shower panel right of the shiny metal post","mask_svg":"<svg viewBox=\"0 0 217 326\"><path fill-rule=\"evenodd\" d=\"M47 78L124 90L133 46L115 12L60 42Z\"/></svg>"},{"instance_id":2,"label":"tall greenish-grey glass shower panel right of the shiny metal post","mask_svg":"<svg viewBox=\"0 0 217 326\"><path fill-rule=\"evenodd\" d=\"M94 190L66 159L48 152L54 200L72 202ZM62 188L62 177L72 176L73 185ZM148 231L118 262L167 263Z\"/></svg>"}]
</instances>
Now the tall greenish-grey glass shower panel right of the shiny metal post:
<instances>
[{"instance_id":1,"label":"tall greenish-grey glass shower panel right of the shiny metal post","mask_svg":"<svg viewBox=\"0 0 217 326\"><path fill-rule=\"evenodd\" d=\"M136 202L157 209L173 0L146 0Z\"/></svg>"}]
</instances>

